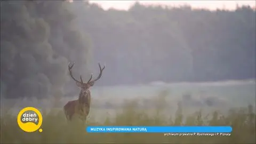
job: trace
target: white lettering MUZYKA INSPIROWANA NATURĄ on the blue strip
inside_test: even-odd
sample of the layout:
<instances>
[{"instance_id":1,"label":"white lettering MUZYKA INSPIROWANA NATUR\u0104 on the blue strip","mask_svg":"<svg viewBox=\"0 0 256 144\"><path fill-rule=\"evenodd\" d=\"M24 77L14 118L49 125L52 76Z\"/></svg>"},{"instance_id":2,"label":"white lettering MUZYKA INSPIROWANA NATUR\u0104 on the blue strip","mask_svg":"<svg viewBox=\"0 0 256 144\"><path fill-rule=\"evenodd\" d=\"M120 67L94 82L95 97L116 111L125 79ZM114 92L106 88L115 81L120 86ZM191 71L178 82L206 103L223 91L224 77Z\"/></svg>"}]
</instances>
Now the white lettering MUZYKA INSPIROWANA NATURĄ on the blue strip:
<instances>
[{"instance_id":1,"label":"white lettering MUZYKA INSPIROWANA NATUR\u0104 on the blue strip","mask_svg":"<svg viewBox=\"0 0 256 144\"><path fill-rule=\"evenodd\" d=\"M107 128L99 128L99 127L91 127L91 132L147 132L147 128L145 127L107 127Z\"/></svg>"}]
</instances>

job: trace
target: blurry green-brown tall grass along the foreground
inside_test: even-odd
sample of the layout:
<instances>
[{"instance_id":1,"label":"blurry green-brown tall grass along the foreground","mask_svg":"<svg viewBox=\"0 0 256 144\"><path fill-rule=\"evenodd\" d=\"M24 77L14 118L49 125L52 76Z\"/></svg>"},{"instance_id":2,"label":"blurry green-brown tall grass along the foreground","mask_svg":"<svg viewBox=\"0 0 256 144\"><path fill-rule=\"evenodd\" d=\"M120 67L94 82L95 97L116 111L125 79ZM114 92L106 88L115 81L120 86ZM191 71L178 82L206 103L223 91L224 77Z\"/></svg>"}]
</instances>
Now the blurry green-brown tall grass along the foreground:
<instances>
[{"instance_id":1,"label":"blurry green-brown tall grass along the foreground","mask_svg":"<svg viewBox=\"0 0 256 144\"><path fill-rule=\"evenodd\" d=\"M1 143L255 143L255 111L252 105L245 108L233 108L227 115L218 110L203 115L200 109L188 116L183 115L183 107L178 103L175 116L162 113L165 92L155 100L153 115L139 108L136 100L127 101L122 112L106 116L104 123L95 122L93 117L86 124L74 120L67 122L63 111L43 115L43 132L26 133L19 129L17 117L7 112L1 119ZM97 115L97 114L93 114ZM86 125L230 125L233 132L230 137L174 137L163 133L86 133Z\"/></svg>"}]
</instances>

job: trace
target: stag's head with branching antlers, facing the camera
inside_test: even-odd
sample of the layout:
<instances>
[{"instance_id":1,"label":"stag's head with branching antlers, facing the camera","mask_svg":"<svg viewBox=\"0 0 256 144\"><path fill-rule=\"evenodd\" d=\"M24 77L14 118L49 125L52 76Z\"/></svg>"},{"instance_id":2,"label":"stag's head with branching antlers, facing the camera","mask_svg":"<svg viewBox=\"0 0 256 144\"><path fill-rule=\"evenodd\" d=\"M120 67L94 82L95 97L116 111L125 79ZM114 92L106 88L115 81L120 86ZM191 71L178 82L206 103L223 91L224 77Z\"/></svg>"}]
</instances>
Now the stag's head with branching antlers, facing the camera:
<instances>
[{"instance_id":1,"label":"stag's head with branching antlers, facing the camera","mask_svg":"<svg viewBox=\"0 0 256 144\"><path fill-rule=\"evenodd\" d=\"M100 67L99 76L98 76L97 78L95 78L95 79L92 79L92 75L93 75L93 74L91 74L91 77L90 77L89 81L87 81L87 83L84 83L84 82L83 82L83 79L82 79L82 76L80 76L80 81L77 81L77 79L74 78L74 76L73 76L73 74L72 74L72 70L71 70L71 69L73 68L74 64L75 64L75 63L73 63L73 64L70 66L70 63L68 63L69 75L71 76L71 78L74 79L74 81L76 82L76 85L77 85L78 87L81 87L81 89L84 89L84 90L89 89L91 86L93 86L93 85L94 85L94 82L96 82L96 81L98 81L98 79L100 79L100 77L101 77L101 75L102 75L102 71L103 71L103 69L105 69L105 66L104 66L103 68L101 68L100 63L99 63L99 67Z\"/></svg>"}]
</instances>

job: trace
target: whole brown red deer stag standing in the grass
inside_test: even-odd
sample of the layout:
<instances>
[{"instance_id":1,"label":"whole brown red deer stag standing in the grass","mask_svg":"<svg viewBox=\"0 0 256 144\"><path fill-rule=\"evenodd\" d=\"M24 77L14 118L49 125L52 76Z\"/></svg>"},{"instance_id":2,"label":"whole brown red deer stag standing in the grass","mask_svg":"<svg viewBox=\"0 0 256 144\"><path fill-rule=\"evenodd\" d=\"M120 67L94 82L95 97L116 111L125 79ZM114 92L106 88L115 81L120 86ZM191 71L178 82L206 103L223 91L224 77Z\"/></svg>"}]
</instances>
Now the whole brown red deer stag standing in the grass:
<instances>
[{"instance_id":1,"label":"whole brown red deer stag standing in the grass","mask_svg":"<svg viewBox=\"0 0 256 144\"><path fill-rule=\"evenodd\" d=\"M81 92L79 94L78 100L73 100L69 101L65 106L64 106L64 111L66 118L68 121L71 121L72 117L74 114L77 114L82 121L86 121L87 116L89 115L90 112L90 105L91 105L91 92L89 88L94 85L94 82L100 79L101 74L103 69L105 69L105 66L101 68L100 63L100 73L99 76L96 79L92 80L92 75L87 83L83 82L82 76L80 76L81 82L77 81L73 75L71 69L73 68L74 63L70 66L70 63L68 64L68 70L71 78L74 79L76 82L76 85L78 87L81 87Z\"/></svg>"}]
</instances>

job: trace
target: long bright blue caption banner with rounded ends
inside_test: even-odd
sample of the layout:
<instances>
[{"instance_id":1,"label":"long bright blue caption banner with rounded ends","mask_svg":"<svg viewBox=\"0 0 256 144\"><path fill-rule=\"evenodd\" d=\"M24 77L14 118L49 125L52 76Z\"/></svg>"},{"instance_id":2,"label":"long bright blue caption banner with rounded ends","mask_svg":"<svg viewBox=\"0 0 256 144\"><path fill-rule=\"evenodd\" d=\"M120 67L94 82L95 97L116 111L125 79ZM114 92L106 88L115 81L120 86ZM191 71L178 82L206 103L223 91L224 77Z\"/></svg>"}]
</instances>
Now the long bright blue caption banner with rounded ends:
<instances>
[{"instance_id":1,"label":"long bright blue caption banner with rounded ends","mask_svg":"<svg viewBox=\"0 0 256 144\"><path fill-rule=\"evenodd\" d=\"M189 133L189 132L211 132L211 133L230 133L230 126L88 126L87 132L94 133L134 133L134 132L149 132L149 133Z\"/></svg>"}]
</instances>

